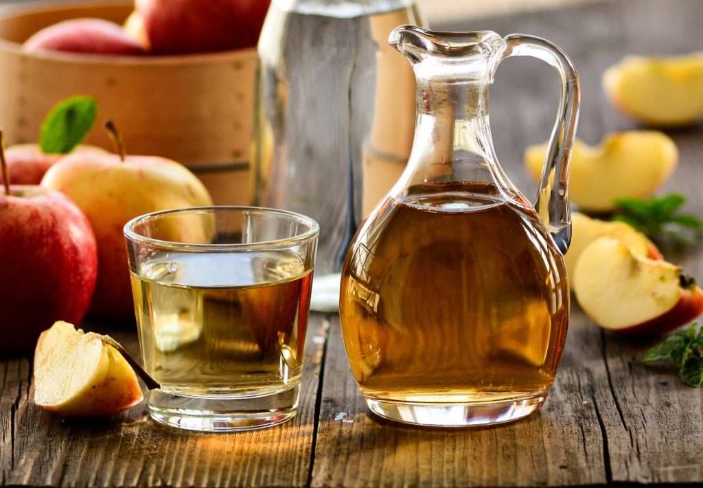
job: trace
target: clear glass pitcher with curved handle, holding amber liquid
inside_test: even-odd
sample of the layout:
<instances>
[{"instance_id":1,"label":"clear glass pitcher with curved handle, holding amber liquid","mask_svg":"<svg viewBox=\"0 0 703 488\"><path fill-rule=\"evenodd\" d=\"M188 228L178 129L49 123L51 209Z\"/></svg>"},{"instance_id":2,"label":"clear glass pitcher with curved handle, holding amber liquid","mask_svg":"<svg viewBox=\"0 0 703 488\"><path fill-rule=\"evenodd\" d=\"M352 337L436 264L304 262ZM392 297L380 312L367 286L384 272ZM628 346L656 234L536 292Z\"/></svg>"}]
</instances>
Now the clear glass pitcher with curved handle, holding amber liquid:
<instances>
[{"instance_id":1,"label":"clear glass pitcher with curved handle, holding amber liquid","mask_svg":"<svg viewBox=\"0 0 703 488\"><path fill-rule=\"evenodd\" d=\"M340 318L371 411L421 425L522 418L546 399L569 319L563 253L579 82L550 42L522 34L397 27L417 80L401 178L356 233ZM501 60L552 65L562 101L533 207L494 153L488 86Z\"/></svg>"}]
</instances>

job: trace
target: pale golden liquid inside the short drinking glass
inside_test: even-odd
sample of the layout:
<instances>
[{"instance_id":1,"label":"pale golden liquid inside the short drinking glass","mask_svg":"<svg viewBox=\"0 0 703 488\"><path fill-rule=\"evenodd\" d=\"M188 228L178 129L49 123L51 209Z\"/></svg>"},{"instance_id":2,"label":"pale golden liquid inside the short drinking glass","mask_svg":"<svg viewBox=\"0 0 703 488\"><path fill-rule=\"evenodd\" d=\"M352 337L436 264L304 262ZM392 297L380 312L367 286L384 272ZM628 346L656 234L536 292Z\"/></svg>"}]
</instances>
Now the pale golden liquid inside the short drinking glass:
<instances>
[{"instance_id":1,"label":"pale golden liquid inside the short drinking glass","mask_svg":"<svg viewBox=\"0 0 703 488\"><path fill-rule=\"evenodd\" d=\"M170 253L131 280L144 367L162 390L262 394L299 381L311 272L295 255Z\"/></svg>"}]
</instances>

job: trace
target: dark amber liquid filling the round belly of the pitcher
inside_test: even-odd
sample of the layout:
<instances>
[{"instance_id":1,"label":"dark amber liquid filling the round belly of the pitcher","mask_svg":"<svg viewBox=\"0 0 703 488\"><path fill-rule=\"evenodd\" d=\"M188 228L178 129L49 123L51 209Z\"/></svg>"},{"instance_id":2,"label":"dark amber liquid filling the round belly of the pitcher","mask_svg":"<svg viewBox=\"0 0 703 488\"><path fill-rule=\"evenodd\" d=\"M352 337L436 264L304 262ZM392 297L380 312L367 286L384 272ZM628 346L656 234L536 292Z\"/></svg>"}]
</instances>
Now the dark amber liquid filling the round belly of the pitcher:
<instances>
[{"instance_id":1,"label":"dark amber liquid filling the round belly of the pitcher","mask_svg":"<svg viewBox=\"0 0 703 488\"><path fill-rule=\"evenodd\" d=\"M546 394L569 290L531 205L493 184L423 184L387 197L363 234L344 265L340 314L367 398L481 404Z\"/></svg>"}]
</instances>

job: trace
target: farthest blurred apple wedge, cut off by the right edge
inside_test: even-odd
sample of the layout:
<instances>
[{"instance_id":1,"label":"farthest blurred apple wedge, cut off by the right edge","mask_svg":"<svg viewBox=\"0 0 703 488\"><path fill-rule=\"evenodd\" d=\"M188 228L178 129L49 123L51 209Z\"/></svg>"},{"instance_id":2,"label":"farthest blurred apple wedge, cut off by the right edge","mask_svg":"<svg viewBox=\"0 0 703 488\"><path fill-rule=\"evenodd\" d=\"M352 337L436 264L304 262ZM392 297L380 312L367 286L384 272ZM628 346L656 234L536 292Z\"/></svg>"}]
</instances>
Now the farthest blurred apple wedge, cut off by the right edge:
<instances>
[{"instance_id":1,"label":"farthest blurred apple wedge, cut off by the right edge","mask_svg":"<svg viewBox=\"0 0 703 488\"><path fill-rule=\"evenodd\" d=\"M703 117L703 53L628 56L605 71L603 88L617 108L640 122L692 124Z\"/></svg>"}]
</instances>

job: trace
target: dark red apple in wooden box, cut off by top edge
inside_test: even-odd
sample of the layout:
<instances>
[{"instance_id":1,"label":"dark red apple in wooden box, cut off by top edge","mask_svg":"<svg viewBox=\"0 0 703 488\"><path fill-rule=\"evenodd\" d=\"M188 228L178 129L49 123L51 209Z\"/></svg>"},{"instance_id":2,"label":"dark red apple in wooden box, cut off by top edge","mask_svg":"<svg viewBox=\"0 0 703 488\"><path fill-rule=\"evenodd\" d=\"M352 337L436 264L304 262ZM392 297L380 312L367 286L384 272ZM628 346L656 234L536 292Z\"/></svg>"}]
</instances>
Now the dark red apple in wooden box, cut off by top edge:
<instances>
[{"instance_id":1,"label":"dark red apple in wooden box, cut off by top edge","mask_svg":"<svg viewBox=\"0 0 703 488\"><path fill-rule=\"evenodd\" d=\"M269 0L136 0L157 54L204 53L256 46Z\"/></svg>"}]
</instances>

